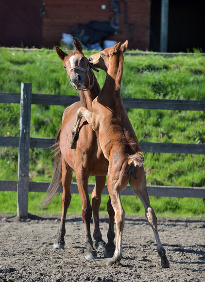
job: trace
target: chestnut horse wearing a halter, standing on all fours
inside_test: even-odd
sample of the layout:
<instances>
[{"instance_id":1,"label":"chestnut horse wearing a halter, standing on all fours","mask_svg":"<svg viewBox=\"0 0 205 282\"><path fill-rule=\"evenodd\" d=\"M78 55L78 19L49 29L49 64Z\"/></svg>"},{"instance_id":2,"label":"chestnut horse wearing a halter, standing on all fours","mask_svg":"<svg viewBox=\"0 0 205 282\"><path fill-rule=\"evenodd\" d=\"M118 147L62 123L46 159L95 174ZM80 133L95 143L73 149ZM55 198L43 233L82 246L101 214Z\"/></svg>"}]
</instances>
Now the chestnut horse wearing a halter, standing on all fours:
<instances>
[{"instance_id":1,"label":"chestnut horse wearing a halter, standing on all fours","mask_svg":"<svg viewBox=\"0 0 205 282\"><path fill-rule=\"evenodd\" d=\"M58 56L63 60L64 68L68 72L70 83L73 88L79 90L80 102L76 102L66 108L62 118L62 125L57 133L55 141L55 168L51 184L47 190L47 197L44 199L43 206L46 206L56 192L63 185L61 197L62 216L58 230L57 242L55 248L64 248L64 236L66 233L65 222L66 214L71 200L70 183L73 170L76 171L76 180L79 194L82 201L82 218L85 222L85 245L86 258L95 258L97 253L93 248L93 242L90 234L90 219L93 211L95 247L104 249L105 242L102 240L102 234L99 228L99 207L101 204L101 194L105 185L108 160L104 158L100 144L99 133L94 132L92 127L84 120L80 124L81 130L75 150L70 149L71 129L75 122L77 110L85 106L92 111L92 101L100 93L100 86L91 70L91 65L83 54L81 42L73 37L75 50L71 53L64 53L56 47ZM96 70L98 71L98 70ZM88 177L95 176L96 184L91 195L92 203L90 205L88 195ZM92 207L91 207L92 206ZM114 211L111 202L108 202L108 212ZM108 234L109 235L109 234Z\"/></svg>"}]
</instances>

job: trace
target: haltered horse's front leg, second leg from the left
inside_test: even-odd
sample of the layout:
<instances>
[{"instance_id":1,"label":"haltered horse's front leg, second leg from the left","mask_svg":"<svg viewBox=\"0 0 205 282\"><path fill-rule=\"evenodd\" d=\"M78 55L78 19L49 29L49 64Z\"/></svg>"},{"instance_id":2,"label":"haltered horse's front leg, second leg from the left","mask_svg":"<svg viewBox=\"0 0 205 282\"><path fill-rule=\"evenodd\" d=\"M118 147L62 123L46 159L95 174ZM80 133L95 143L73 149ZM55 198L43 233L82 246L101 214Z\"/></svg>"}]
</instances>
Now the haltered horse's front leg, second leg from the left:
<instances>
[{"instance_id":1,"label":"haltered horse's front leg, second leg from the left","mask_svg":"<svg viewBox=\"0 0 205 282\"><path fill-rule=\"evenodd\" d=\"M90 220L92 217L92 208L90 205L90 199L88 194L88 174L80 164L77 165L76 180L78 185L78 191L82 202L82 218L85 223L85 258L94 259L97 258L96 250L93 248L92 237L90 233Z\"/></svg>"}]
</instances>

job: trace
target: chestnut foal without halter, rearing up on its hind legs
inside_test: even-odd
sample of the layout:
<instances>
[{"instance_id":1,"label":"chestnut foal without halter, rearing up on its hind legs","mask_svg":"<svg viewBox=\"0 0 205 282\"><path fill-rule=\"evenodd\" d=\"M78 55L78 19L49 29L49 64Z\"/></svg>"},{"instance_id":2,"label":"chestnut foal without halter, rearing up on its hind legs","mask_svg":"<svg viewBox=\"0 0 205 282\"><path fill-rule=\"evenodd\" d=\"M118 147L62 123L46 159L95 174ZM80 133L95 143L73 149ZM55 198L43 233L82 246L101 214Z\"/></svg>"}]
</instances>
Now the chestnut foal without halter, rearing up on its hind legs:
<instances>
[{"instance_id":1,"label":"chestnut foal without halter, rearing up on its hind legs","mask_svg":"<svg viewBox=\"0 0 205 282\"><path fill-rule=\"evenodd\" d=\"M115 253L109 259L108 264L117 263L122 257L122 231L125 212L121 204L120 194L130 182L130 186L145 208L145 216L154 231L161 265L168 268L170 264L159 239L157 218L150 205L147 193L143 167L144 156L140 151L135 131L120 97L123 53L127 49L127 44L127 41L122 45L119 42L114 47L107 48L89 58L94 67L106 71L106 80L100 94L92 102L92 112L85 107L78 109L76 122L72 129L71 147L75 147L75 137L79 132L80 121L85 118L93 130L99 132L102 152L105 158L109 160L107 188L115 211L117 238Z\"/></svg>"}]
</instances>

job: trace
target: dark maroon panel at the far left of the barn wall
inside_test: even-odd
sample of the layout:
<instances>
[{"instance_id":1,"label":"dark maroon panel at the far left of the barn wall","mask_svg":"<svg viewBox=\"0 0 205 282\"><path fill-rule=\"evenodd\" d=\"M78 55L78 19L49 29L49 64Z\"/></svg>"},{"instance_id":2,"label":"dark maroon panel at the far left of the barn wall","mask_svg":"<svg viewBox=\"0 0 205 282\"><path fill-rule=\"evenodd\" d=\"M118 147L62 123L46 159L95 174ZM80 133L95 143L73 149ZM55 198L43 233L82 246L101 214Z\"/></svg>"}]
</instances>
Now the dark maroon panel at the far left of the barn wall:
<instances>
[{"instance_id":1,"label":"dark maroon panel at the far left of the barn wall","mask_svg":"<svg viewBox=\"0 0 205 282\"><path fill-rule=\"evenodd\" d=\"M0 46L42 45L39 0L0 0Z\"/></svg>"}]
</instances>

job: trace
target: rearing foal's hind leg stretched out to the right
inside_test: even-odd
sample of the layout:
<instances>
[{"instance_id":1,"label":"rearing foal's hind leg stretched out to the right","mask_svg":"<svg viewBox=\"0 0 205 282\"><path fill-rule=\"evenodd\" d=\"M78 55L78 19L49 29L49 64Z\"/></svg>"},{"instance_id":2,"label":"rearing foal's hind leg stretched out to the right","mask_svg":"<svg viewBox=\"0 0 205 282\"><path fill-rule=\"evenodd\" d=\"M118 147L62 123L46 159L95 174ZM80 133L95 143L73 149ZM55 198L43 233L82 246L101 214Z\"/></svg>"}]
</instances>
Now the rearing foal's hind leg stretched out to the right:
<instances>
[{"instance_id":1,"label":"rearing foal's hind leg stretched out to the right","mask_svg":"<svg viewBox=\"0 0 205 282\"><path fill-rule=\"evenodd\" d=\"M137 168L137 172L135 169L134 172L131 174L130 186L140 198L145 209L145 216L154 231L154 236L157 244L157 251L161 258L161 265L163 268L169 268L170 263L167 259L165 248L162 246L161 241L159 239L159 234L157 230L157 218L153 208L150 205L150 199L147 193L146 177L143 167Z\"/></svg>"}]
</instances>

